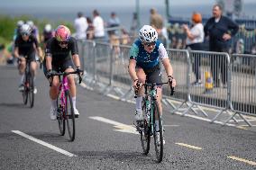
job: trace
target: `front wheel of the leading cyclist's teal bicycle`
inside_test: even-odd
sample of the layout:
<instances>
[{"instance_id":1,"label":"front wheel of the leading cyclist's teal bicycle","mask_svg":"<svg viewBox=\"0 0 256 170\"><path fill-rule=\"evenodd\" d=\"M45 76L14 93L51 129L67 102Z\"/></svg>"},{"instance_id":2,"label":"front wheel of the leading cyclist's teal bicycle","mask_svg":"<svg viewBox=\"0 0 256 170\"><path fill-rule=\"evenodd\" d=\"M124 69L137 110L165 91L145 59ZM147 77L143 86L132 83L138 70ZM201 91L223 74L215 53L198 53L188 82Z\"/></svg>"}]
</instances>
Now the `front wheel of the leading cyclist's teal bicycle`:
<instances>
[{"instance_id":1,"label":"front wheel of the leading cyclist's teal bicycle","mask_svg":"<svg viewBox=\"0 0 256 170\"><path fill-rule=\"evenodd\" d=\"M155 152L156 152L157 162L160 163L162 161L162 157L163 157L163 134L162 134L163 129L162 129L162 121L161 121L160 109L159 109L158 103L153 102L151 109L153 109L153 111L154 111L154 113L153 113L153 124L154 124L153 136L154 136ZM159 127L160 127L160 130L159 130L160 142L158 142L158 139L157 139L157 131L156 131L156 125L155 125L156 115L158 117Z\"/></svg>"}]
</instances>

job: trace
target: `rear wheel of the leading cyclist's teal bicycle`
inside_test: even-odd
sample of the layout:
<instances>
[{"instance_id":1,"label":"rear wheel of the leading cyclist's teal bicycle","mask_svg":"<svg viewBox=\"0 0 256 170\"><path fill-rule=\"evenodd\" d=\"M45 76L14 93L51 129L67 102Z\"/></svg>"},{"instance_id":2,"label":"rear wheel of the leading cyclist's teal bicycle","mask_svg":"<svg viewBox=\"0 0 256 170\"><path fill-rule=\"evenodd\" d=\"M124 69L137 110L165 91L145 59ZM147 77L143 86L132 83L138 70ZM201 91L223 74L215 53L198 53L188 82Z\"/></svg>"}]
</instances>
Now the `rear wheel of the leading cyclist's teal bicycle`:
<instances>
[{"instance_id":1,"label":"rear wheel of the leading cyclist's teal bicycle","mask_svg":"<svg viewBox=\"0 0 256 170\"><path fill-rule=\"evenodd\" d=\"M146 108L146 101L144 97L142 99L142 112L143 112L143 115L146 115L147 108ZM145 120L143 123L143 130L140 131L141 141L142 141L142 151L144 155L148 155L150 151L150 146L151 146L151 131L148 123L150 122L147 122Z\"/></svg>"}]
</instances>

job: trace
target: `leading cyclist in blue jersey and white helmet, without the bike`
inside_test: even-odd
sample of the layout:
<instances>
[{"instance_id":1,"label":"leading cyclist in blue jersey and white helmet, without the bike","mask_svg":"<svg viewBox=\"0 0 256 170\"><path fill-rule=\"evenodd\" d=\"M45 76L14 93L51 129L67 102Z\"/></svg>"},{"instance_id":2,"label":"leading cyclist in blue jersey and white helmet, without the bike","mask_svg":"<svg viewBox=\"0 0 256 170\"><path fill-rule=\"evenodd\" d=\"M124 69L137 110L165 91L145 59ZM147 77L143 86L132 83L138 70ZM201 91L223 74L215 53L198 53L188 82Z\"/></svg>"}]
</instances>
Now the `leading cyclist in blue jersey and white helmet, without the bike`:
<instances>
[{"instance_id":1,"label":"leading cyclist in blue jersey and white helmet, without the bike","mask_svg":"<svg viewBox=\"0 0 256 170\"><path fill-rule=\"evenodd\" d=\"M158 40L157 31L150 25L144 25L139 32L139 39L133 42L130 50L129 74L133 80L133 88L138 88L138 83L162 83L160 60L165 68L171 86L176 85L173 78L173 69L169 62L169 57L163 44ZM139 88L136 98L135 121L142 121L142 95L143 88ZM157 102L162 113L161 85L157 88ZM156 121L156 130L159 130L158 121Z\"/></svg>"}]
</instances>

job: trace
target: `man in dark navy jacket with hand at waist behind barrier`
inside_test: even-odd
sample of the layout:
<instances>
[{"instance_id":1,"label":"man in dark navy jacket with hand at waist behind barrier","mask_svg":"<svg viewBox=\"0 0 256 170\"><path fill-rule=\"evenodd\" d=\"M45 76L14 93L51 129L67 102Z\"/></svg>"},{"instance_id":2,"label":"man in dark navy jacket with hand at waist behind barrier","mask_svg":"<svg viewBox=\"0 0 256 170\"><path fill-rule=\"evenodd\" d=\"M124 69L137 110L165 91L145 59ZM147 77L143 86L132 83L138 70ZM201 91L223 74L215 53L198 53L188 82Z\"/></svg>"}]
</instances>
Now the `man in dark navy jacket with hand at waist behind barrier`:
<instances>
[{"instance_id":1,"label":"man in dark navy jacket with hand at waist behind barrier","mask_svg":"<svg viewBox=\"0 0 256 170\"><path fill-rule=\"evenodd\" d=\"M209 36L209 50L216 52L228 52L230 40L236 34L239 27L231 19L222 15L222 7L215 4L213 7L213 17L205 25L206 37ZM220 86L218 80L219 69L224 87L227 83L227 59L214 56L211 58L211 71L215 87Z\"/></svg>"}]
</instances>

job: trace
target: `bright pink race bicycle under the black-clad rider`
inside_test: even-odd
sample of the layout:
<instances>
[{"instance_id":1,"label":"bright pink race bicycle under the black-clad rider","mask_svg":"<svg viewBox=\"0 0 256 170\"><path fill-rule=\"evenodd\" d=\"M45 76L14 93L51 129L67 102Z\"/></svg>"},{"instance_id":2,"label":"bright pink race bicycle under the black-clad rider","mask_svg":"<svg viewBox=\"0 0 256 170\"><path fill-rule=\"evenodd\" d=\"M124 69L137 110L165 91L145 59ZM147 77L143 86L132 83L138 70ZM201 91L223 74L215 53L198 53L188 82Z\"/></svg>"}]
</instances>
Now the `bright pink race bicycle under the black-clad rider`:
<instances>
[{"instance_id":1,"label":"bright pink race bicycle under the black-clad rider","mask_svg":"<svg viewBox=\"0 0 256 170\"><path fill-rule=\"evenodd\" d=\"M74 107L72 103L72 99L69 92L69 85L68 85L68 75L70 74L78 74L79 76L79 84L82 81L82 77L80 76L80 72L82 70L73 71L73 72L63 72L63 73L52 73L50 85L52 83L53 76L59 76L59 94L57 98L57 121L59 125L59 133L61 136L65 135L66 123L67 129L69 131L69 139L70 141L74 141L75 133L76 133L76 125L75 125L75 116Z\"/></svg>"}]
</instances>

